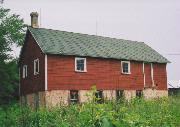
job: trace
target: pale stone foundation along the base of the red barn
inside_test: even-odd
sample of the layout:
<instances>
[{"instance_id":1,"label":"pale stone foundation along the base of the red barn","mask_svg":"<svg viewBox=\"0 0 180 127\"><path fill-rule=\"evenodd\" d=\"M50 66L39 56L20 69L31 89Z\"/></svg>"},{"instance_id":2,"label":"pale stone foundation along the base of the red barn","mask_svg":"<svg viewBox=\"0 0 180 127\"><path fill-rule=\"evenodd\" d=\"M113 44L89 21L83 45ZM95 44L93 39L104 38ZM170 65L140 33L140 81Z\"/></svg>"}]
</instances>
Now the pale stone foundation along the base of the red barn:
<instances>
[{"instance_id":1,"label":"pale stone foundation along the base of the red barn","mask_svg":"<svg viewBox=\"0 0 180 127\"><path fill-rule=\"evenodd\" d=\"M79 103L85 103L92 99L92 92L90 90L79 90ZM156 90L156 89L144 89L143 97L145 99L153 99L159 97L167 97L167 90ZM103 97L105 100L115 100L116 90L104 90ZM124 90L124 98L130 100L136 97L136 90ZM33 94L27 94L26 96L21 96L20 101L22 105L29 105L32 108L37 106L42 107L54 107L54 106L64 106L69 104L70 91L69 90L52 90L44 91Z\"/></svg>"}]
</instances>

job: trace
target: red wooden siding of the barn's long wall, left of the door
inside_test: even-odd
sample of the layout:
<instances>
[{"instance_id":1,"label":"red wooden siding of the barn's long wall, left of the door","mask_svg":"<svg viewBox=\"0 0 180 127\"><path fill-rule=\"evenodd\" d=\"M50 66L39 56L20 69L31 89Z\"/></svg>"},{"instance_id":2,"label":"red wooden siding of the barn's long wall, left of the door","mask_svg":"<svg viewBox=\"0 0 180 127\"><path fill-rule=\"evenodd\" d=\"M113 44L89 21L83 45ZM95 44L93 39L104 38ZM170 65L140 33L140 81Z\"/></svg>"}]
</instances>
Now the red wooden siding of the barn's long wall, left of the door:
<instances>
[{"instance_id":1,"label":"red wooden siding of the barn's long wall, left of the door","mask_svg":"<svg viewBox=\"0 0 180 127\"><path fill-rule=\"evenodd\" d=\"M73 56L48 55L48 90L143 89L142 63L131 62L131 74L121 74L121 61L90 58L87 72L75 72Z\"/></svg>"}]
</instances>

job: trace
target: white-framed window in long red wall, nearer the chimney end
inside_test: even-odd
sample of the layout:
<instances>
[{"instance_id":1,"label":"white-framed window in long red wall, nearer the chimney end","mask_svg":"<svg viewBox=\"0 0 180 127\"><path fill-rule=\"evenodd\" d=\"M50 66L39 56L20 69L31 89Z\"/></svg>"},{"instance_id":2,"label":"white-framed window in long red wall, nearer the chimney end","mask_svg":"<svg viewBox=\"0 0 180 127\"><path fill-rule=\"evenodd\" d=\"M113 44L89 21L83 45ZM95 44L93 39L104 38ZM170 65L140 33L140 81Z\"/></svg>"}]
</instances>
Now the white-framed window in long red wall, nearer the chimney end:
<instances>
[{"instance_id":1,"label":"white-framed window in long red wall, nearer the chimney end","mask_svg":"<svg viewBox=\"0 0 180 127\"><path fill-rule=\"evenodd\" d=\"M75 58L75 71L86 72L86 58Z\"/></svg>"}]
</instances>

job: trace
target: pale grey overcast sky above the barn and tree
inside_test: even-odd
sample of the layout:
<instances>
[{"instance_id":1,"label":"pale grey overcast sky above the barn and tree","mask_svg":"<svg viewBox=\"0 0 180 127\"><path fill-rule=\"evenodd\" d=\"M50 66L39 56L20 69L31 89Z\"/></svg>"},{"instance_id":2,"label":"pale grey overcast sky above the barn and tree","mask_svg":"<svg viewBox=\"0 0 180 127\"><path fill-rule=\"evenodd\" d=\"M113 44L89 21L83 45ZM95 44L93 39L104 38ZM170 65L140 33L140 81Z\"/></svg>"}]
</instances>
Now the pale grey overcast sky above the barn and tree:
<instances>
[{"instance_id":1,"label":"pale grey overcast sky above the barn and tree","mask_svg":"<svg viewBox=\"0 0 180 127\"><path fill-rule=\"evenodd\" d=\"M37 11L43 28L143 41L172 62L168 80L180 80L180 0L5 0L3 6L29 25Z\"/></svg>"}]
</instances>

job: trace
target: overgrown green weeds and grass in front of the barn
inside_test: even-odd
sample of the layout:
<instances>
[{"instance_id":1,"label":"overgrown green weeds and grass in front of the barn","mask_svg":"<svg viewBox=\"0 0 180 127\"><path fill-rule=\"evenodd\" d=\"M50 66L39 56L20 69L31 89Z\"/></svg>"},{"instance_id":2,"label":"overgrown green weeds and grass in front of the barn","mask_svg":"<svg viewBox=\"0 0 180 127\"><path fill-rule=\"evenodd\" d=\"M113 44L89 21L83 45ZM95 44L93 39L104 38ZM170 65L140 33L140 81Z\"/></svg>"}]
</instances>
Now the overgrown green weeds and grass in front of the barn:
<instances>
[{"instance_id":1,"label":"overgrown green weeds and grass in front of the barn","mask_svg":"<svg viewBox=\"0 0 180 127\"><path fill-rule=\"evenodd\" d=\"M11 105L0 108L1 127L178 127L180 97L131 102L86 103L38 111Z\"/></svg>"}]
</instances>

